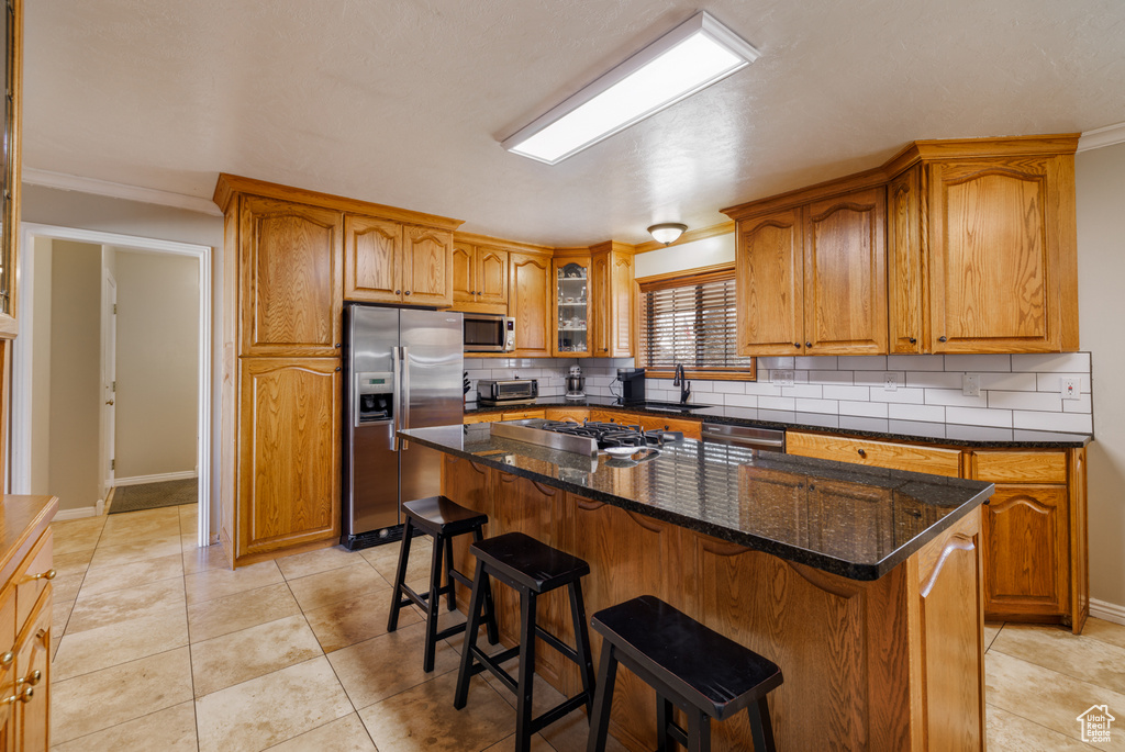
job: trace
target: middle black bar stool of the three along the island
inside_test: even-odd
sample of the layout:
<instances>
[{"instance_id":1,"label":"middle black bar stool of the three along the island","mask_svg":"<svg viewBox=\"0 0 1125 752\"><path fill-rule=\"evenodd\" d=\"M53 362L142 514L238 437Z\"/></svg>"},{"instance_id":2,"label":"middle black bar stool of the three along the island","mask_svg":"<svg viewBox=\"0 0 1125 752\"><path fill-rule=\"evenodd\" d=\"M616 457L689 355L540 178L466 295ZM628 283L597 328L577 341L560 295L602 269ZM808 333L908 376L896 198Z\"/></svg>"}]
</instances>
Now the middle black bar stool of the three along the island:
<instances>
[{"instance_id":1,"label":"middle black bar stool of the three along the island","mask_svg":"<svg viewBox=\"0 0 1125 752\"><path fill-rule=\"evenodd\" d=\"M582 578L590 573L590 564L558 549L552 549L523 533L506 533L486 541L477 541L469 549L477 558L477 572L469 602L469 629L461 652L461 671L457 677L453 707L460 710L469 696L469 680L488 669L505 687L515 692L515 751L531 749L531 735L555 723L583 705L587 713L594 699L594 664L590 656L590 632L586 610L582 602ZM482 606L488 597L488 580L495 577L520 594L520 644L515 647L486 655L477 647L477 626ZM574 618L575 647L536 624L536 602L539 596L566 586L570 594L570 615ZM570 697L538 718L531 717L532 680L536 673L536 637L578 664L583 691ZM501 663L520 656L519 678L513 679Z\"/></svg>"}]
</instances>

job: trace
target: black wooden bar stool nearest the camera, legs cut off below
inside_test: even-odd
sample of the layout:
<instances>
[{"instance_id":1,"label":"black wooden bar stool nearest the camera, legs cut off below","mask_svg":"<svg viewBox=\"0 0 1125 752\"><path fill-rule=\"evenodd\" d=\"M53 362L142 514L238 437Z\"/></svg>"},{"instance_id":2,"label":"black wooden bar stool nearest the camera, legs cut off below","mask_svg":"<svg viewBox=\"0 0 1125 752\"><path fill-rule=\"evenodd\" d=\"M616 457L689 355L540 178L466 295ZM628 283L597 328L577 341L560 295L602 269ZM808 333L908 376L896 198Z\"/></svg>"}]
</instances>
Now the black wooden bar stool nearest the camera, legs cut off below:
<instances>
[{"instance_id":1,"label":"black wooden bar stool nearest the camera, legs cut off below","mask_svg":"<svg viewBox=\"0 0 1125 752\"><path fill-rule=\"evenodd\" d=\"M658 752L675 749L672 741L692 752L710 750L711 718L724 721L742 708L754 752L773 752L766 695L782 682L775 663L652 596L597 611L591 623L605 642L587 752L605 749L618 662L656 689ZM687 714L686 732L672 719L673 704Z\"/></svg>"}]
</instances>

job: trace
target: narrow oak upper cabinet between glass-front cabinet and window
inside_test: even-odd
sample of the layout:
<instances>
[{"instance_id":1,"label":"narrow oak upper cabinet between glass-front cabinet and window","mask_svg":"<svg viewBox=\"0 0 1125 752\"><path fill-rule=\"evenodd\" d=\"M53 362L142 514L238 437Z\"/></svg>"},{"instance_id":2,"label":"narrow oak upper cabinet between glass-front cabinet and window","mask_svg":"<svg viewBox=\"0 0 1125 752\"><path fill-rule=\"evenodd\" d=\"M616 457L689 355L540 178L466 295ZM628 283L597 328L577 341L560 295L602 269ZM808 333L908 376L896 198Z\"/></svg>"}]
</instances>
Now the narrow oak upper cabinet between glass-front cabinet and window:
<instances>
[{"instance_id":1,"label":"narrow oak upper cabinet between glass-front cabinet and window","mask_svg":"<svg viewBox=\"0 0 1125 752\"><path fill-rule=\"evenodd\" d=\"M637 307L632 248L611 241L591 251L590 353L594 357L631 357L636 352Z\"/></svg>"}]
</instances>

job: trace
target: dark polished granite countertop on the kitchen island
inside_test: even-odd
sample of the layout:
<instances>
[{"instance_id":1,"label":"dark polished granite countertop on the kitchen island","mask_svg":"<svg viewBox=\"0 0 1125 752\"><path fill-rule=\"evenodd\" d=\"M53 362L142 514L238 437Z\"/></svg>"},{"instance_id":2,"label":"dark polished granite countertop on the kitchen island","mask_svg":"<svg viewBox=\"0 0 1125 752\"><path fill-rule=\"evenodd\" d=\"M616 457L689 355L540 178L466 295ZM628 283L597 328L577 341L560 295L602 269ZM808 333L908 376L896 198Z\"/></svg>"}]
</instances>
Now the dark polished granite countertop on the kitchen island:
<instances>
[{"instance_id":1,"label":"dark polished granite countertop on the kitchen island","mask_svg":"<svg viewBox=\"0 0 1125 752\"><path fill-rule=\"evenodd\" d=\"M494 437L399 436L584 498L853 580L876 580L980 506L992 484L683 440L640 463Z\"/></svg>"}]
</instances>

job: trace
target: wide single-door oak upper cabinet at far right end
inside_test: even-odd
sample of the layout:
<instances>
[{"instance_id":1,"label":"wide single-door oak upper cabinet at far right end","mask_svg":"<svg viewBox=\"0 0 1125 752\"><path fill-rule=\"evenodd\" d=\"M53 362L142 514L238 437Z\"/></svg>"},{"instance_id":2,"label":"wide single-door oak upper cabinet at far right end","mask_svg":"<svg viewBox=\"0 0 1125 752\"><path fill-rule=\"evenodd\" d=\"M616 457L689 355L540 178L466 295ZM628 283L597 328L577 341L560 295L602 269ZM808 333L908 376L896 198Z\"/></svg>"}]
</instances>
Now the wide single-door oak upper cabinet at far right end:
<instances>
[{"instance_id":1,"label":"wide single-door oak upper cabinet at far right end","mask_svg":"<svg viewBox=\"0 0 1125 752\"><path fill-rule=\"evenodd\" d=\"M1074 251L1073 237L1064 239L1073 235L1073 192L1071 156L929 165L930 352L1078 347L1062 257L1064 244Z\"/></svg>"}]
</instances>

